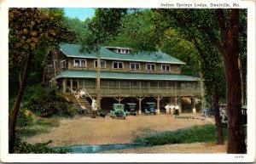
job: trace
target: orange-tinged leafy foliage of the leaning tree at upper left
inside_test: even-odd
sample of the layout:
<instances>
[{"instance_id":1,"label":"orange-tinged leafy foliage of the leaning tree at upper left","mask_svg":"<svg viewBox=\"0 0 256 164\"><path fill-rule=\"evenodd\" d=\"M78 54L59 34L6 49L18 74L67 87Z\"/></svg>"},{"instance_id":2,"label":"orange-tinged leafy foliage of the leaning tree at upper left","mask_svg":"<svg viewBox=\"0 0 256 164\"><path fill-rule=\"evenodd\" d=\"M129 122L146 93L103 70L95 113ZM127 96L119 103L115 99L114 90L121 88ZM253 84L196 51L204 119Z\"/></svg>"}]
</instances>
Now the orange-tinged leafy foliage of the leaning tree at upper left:
<instances>
[{"instance_id":1,"label":"orange-tinged leafy foliage of the leaning tree at upper left","mask_svg":"<svg viewBox=\"0 0 256 164\"><path fill-rule=\"evenodd\" d=\"M27 54L33 52L27 85L42 82L44 59L59 42L73 40L61 8L9 8L9 99L20 88Z\"/></svg>"}]
</instances>

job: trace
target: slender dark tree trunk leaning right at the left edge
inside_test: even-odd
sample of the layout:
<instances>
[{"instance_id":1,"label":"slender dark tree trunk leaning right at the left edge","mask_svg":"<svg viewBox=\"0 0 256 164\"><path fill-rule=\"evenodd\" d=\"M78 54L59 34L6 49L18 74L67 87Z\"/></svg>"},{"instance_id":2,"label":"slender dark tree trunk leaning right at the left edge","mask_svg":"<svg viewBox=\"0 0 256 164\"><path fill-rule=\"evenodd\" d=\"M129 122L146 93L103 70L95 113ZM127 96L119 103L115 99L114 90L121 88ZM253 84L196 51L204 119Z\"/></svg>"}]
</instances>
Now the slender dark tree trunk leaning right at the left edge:
<instances>
[{"instance_id":1,"label":"slender dark tree trunk leaning right at the left edge","mask_svg":"<svg viewBox=\"0 0 256 164\"><path fill-rule=\"evenodd\" d=\"M28 76L28 71L29 71L31 61L32 61L32 52L27 54L26 65L24 68L22 80L20 82L20 88L19 88L18 95L15 100L14 109L11 112L11 116L10 116L10 120L9 120L9 153L14 153L15 139L16 139L15 128L16 128L17 116L19 113L20 103L21 103L24 88L26 85L26 78Z\"/></svg>"}]
</instances>

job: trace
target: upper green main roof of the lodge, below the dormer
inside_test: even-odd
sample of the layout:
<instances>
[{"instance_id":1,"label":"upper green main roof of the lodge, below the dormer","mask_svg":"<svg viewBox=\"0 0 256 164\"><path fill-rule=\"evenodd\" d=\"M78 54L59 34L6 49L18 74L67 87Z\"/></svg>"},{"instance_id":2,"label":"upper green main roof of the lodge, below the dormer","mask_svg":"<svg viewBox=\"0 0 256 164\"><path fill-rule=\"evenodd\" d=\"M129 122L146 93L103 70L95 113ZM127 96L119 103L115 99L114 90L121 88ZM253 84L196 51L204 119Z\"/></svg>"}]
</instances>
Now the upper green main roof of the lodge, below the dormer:
<instances>
[{"instance_id":1,"label":"upper green main roof of the lodge, below the dormer","mask_svg":"<svg viewBox=\"0 0 256 164\"><path fill-rule=\"evenodd\" d=\"M91 58L96 59L96 53L80 52L81 46L78 44L60 44L61 52L68 57L74 58ZM116 59L141 62L156 62L184 65L185 63L179 59L172 57L169 54L162 52L154 53L137 53L137 54L117 54L108 48L101 47L101 59Z\"/></svg>"}]
</instances>

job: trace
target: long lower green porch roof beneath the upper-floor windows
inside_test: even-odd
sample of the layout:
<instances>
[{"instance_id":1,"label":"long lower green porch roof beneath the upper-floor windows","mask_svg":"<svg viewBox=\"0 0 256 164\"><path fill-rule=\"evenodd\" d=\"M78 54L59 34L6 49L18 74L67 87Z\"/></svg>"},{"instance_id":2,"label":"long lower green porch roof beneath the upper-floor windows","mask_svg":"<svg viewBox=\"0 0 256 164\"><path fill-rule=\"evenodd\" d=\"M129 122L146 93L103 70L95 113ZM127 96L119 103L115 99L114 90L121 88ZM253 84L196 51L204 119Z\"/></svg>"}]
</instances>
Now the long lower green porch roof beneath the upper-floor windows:
<instances>
[{"instance_id":1,"label":"long lower green porch roof beneath the upper-floor windows","mask_svg":"<svg viewBox=\"0 0 256 164\"><path fill-rule=\"evenodd\" d=\"M96 78L96 71L74 71L67 70L61 72L56 78ZM123 80L161 80L161 81L199 81L193 76L177 74L156 74L156 73L136 73L136 72L113 72L101 71L102 79L123 79Z\"/></svg>"}]
</instances>

